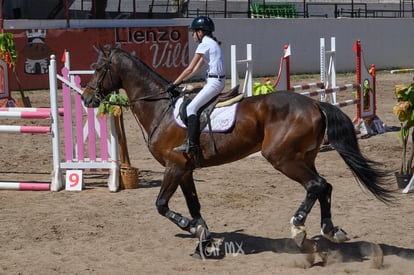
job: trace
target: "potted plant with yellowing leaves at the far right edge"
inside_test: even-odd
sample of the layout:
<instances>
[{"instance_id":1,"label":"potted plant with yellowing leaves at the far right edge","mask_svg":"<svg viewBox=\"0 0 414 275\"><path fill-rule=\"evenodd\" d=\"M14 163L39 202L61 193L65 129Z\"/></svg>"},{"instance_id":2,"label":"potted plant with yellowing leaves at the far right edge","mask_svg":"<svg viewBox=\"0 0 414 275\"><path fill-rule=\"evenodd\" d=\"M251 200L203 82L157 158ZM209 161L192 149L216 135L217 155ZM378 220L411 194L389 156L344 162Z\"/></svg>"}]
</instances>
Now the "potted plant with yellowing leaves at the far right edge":
<instances>
[{"instance_id":1,"label":"potted plant with yellowing leaves at the far right edge","mask_svg":"<svg viewBox=\"0 0 414 275\"><path fill-rule=\"evenodd\" d=\"M413 173L414 159L414 135L411 128L414 126L414 81L410 85L396 85L394 89L397 103L394 105L393 112L401 123L401 129L398 137L402 142L401 167L397 174L397 182L399 178L402 180L401 186L405 187L411 179ZM408 140L411 136L411 151L408 155ZM408 157L407 157L408 155Z\"/></svg>"}]
</instances>

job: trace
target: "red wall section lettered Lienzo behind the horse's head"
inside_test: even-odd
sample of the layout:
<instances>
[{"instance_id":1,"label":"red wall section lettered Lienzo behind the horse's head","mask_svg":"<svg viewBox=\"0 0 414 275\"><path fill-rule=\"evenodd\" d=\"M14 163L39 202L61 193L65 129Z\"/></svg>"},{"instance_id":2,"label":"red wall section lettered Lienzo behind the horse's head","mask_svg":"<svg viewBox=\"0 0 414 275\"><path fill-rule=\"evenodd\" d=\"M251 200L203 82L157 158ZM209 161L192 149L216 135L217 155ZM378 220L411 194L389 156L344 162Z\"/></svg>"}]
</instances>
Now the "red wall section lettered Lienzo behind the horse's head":
<instances>
[{"instance_id":1,"label":"red wall section lettered Lienzo behind the horse's head","mask_svg":"<svg viewBox=\"0 0 414 275\"><path fill-rule=\"evenodd\" d=\"M125 27L93 29L11 30L18 58L16 72L23 90L49 88L50 55L63 67L64 51L70 53L71 70L92 70L98 60L98 44L121 47L144 61L160 75L174 80L188 65L188 27ZM87 81L89 76L84 77ZM10 89L18 90L9 73Z\"/></svg>"}]
</instances>

